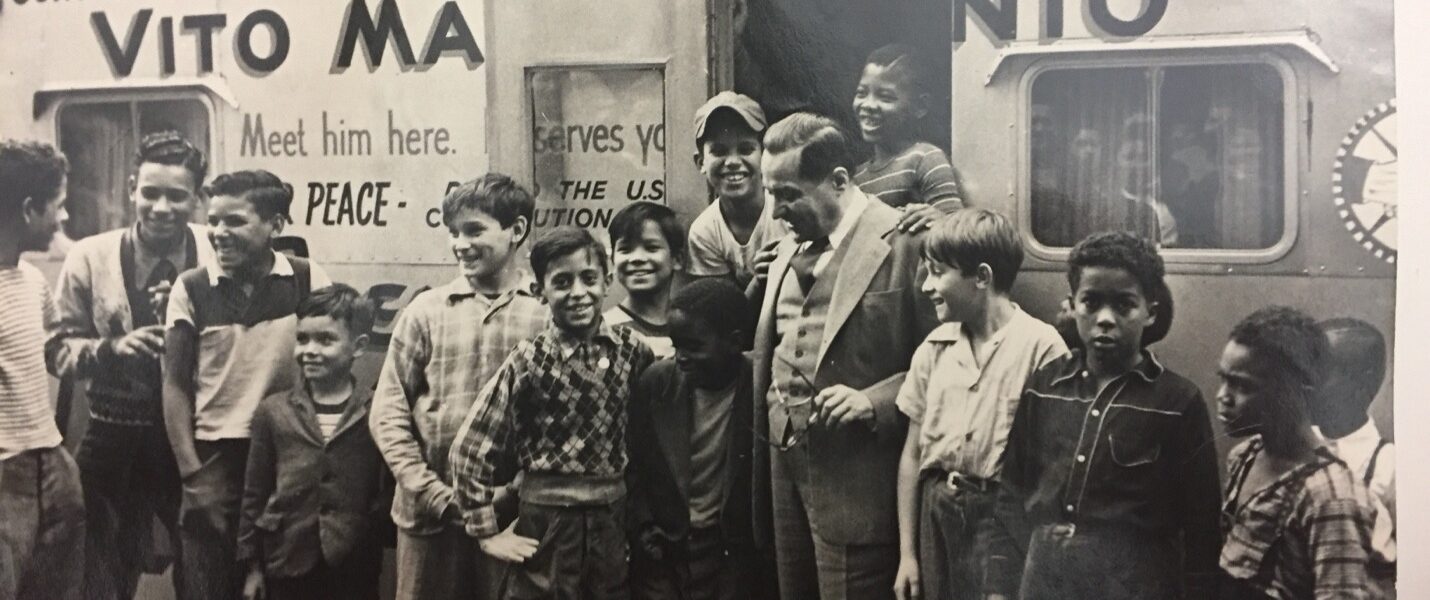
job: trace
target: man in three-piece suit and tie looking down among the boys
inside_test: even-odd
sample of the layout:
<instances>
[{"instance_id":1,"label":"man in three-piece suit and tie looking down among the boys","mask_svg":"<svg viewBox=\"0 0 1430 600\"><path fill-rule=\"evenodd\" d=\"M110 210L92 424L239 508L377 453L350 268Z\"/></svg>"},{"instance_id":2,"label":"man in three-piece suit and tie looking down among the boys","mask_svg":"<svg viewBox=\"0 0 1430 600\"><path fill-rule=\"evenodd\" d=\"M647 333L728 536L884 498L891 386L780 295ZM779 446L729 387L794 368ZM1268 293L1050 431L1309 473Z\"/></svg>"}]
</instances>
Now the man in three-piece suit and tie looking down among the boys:
<instances>
[{"instance_id":1,"label":"man in three-piece suit and tie looking down among the boys","mask_svg":"<svg viewBox=\"0 0 1430 600\"><path fill-rule=\"evenodd\" d=\"M774 534L785 599L894 596L908 426L894 397L937 324L918 291L919 239L889 237L901 213L852 183L849 146L809 113L765 134L764 187L794 234L769 266L755 327L756 461L771 464L755 494L774 506L772 520L756 511L756 537Z\"/></svg>"}]
</instances>

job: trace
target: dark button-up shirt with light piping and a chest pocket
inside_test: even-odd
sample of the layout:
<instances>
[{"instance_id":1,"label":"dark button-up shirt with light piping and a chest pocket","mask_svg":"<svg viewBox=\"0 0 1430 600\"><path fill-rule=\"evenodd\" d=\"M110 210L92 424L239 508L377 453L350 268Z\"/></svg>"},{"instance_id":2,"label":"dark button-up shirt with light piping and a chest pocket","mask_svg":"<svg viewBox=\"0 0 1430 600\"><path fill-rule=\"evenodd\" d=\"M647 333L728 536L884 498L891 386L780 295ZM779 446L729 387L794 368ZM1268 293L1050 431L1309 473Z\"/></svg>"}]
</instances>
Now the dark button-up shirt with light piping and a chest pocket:
<instances>
[{"instance_id":1,"label":"dark button-up shirt with light piping and a chest pocket","mask_svg":"<svg viewBox=\"0 0 1430 600\"><path fill-rule=\"evenodd\" d=\"M1101 389L1081 350L1040 370L1018 404L1000 481L994 591L1015 587L1032 527L1057 523L1180 540L1188 597L1213 584L1221 484L1207 404L1147 350Z\"/></svg>"}]
</instances>

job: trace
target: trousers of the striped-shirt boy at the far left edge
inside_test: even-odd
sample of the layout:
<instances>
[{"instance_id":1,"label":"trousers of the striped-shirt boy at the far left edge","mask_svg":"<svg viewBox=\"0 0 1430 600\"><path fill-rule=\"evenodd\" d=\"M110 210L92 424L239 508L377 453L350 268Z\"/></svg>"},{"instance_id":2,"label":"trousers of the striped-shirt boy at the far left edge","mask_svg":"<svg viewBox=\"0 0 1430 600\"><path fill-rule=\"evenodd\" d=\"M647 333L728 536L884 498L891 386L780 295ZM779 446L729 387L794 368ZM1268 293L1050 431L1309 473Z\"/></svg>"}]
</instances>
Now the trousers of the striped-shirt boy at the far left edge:
<instances>
[{"instance_id":1,"label":"trousers of the striped-shirt boy at the far left edge","mask_svg":"<svg viewBox=\"0 0 1430 600\"><path fill-rule=\"evenodd\" d=\"M79 600L84 496L64 447L0 460L0 599Z\"/></svg>"}]
</instances>

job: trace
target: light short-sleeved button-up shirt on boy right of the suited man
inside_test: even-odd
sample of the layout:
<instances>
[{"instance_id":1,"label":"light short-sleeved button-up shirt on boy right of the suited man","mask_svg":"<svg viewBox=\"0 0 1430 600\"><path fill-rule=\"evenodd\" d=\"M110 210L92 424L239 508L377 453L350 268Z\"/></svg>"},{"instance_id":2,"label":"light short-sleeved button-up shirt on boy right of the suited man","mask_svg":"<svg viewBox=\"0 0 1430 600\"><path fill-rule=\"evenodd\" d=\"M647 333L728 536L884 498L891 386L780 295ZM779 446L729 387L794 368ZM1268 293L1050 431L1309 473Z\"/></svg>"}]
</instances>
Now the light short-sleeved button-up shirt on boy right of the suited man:
<instances>
[{"instance_id":1,"label":"light short-sleeved button-up shirt on boy right of the suited man","mask_svg":"<svg viewBox=\"0 0 1430 600\"><path fill-rule=\"evenodd\" d=\"M918 427L919 470L997 477L1024 384L1067 353L1052 326L1017 307L978 357L961 324L938 326L914 351L897 400Z\"/></svg>"}]
</instances>

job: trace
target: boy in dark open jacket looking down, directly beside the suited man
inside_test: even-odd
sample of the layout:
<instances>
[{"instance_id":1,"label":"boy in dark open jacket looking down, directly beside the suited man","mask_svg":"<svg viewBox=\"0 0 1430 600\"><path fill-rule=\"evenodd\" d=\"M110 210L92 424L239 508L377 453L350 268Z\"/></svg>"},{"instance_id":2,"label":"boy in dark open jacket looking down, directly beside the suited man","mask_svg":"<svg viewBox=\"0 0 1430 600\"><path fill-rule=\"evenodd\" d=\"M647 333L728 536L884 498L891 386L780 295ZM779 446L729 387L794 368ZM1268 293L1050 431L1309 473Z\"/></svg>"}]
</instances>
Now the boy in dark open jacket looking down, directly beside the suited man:
<instances>
[{"instance_id":1,"label":"boy in dark open jacket looking down, directly beside the suited man","mask_svg":"<svg viewBox=\"0 0 1430 600\"><path fill-rule=\"evenodd\" d=\"M671 299L675 357L631 406L631 581L636 599L749 599L774 589L752 539L749 304L725 279Z\"/></svg>"}]
</instances>

